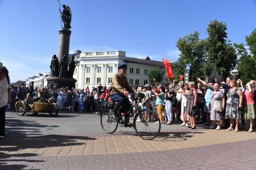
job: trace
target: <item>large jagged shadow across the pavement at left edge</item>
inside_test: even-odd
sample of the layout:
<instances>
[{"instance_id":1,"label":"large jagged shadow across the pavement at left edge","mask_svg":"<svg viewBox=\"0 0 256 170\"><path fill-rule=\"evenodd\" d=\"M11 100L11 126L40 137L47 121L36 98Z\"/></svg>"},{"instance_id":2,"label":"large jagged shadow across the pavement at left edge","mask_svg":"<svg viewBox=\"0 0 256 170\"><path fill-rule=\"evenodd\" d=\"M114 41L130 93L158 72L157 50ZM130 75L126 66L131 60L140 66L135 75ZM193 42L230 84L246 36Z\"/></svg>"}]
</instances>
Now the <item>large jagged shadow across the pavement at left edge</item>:
<instances>
[{"instance_id":1,"label":"large jagged shadow across the pavement at left edge","mask_svg":"<svg viewBox=\"0 0 256 170\"><path fill-rule=\"evenodd\" d=\"M76 140L96 139L87 136L43 135L40 130L55 127L58 126L47 126L37 121L7 117L5 126L7 134L5 139L0 140L0 169L23 169L29 162L44 162L44 160L38 160L39 154L34 153L39 148L83 145L83 142L76 142ZM24 149L31 149L32 153L19 153Z\"/></svg>"}]
</instances>

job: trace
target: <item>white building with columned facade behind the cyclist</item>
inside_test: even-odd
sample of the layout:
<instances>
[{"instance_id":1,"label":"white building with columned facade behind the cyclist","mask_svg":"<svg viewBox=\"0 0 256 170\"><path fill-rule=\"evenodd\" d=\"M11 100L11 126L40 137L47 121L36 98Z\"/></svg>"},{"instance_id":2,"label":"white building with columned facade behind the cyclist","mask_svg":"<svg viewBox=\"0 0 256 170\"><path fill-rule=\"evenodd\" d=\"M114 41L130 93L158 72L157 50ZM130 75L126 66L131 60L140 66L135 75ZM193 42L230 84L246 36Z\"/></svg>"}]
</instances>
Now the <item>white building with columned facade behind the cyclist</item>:
<instances>
[{"instance_id":1,"label":"white building with columned facade behind the cyclist","mask_svg":"<svg viewBox=\"0 0 256 170\"><path fill-rule=\"evenodd\" d=\"M159 70L166 74L164 63L148 59L138 59L125 56L124 51L83 52L75 56L76 68L73 78L76 88L84 89L110 86L112 77L117 73L119 64L127 64L126 77L130 85L143 86L149 83L150 70Z\"/></svg>"}]
</instances>

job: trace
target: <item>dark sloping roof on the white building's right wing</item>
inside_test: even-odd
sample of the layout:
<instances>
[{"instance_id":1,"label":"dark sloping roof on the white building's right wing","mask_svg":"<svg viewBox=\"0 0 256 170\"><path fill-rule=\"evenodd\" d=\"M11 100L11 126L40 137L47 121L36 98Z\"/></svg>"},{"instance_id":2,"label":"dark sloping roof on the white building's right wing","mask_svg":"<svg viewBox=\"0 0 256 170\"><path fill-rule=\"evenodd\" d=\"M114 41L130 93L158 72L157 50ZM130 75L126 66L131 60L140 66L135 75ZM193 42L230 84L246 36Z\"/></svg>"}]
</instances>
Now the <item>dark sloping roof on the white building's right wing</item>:
<instances>
[{"instance_id":1,"label":"dark sloping roof on the white building's right wing","mask_svg":"<svg viewBox=\"0 0 256 170\"><path fill-rule=\"evenodd\" d=\"M123 57L123 62L130 62L130 63L143 64L143 65L155 65L158 67L164 67L163 61L140 59L140 58L133 58L133 57L128 57L128 56Z\"/></svg>"}]
</instances>

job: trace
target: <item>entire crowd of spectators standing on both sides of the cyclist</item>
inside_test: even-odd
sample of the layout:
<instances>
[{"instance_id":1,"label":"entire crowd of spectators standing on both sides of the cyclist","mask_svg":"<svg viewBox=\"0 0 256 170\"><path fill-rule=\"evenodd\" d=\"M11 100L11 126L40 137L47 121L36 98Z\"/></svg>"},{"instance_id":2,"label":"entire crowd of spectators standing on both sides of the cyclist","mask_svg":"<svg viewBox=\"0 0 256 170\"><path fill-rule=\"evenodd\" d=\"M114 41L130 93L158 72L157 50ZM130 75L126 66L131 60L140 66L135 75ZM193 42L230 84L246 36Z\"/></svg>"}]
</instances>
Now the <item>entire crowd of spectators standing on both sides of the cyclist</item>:
<instances>
[{"instance_id":1,"label":"entire crowd of spectators standing on both sides of the cyclist","mask_svg":"<svg viewBox=\"0 0 256 170\"><path fill-rule=\"evenodd\" d=\"M219 79L204 80L198 78L194 82L183 81L158 84L155 87L146 84L143 87L133 87L134 93L143 93L140 101L142 109L156 112L163 124L181 123L196 129L196 124L204 123L210 129L223 129L238 132L245 129L254 131L255 120L255 81L251 80L243 86L242 80L227 77L226 82ZM93 112L99 114L105 102L110 102L110 87L84 90L75 88L16 88L11 87L11 102L8 109L14 109L14 100L25 98L30 93L31 98L39 97L43 92L45 97L54 97L60 111ZM239 123L242 123L239 126Z\"/></svg>"}]
</instances>

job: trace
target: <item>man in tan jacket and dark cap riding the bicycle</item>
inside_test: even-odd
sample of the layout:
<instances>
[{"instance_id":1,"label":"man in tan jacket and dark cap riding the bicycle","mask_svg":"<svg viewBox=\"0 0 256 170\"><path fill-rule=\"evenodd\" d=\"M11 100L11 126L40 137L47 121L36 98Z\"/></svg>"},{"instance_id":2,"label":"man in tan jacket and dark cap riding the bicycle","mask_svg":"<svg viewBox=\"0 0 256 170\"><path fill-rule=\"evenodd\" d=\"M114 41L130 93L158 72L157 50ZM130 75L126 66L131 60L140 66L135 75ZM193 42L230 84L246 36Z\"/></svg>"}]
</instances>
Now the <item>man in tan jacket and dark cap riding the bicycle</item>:
<instances>
[{"instance_id":1,"label":"man in tan jacket and dark cap riding the bicycle","mask_svg":"<svg viewBox=\"0 0 256 170\"><path fill-rule=\"evenodd\" d=\"M113 108L114 120L119 120L119 113L126 113L130 111L131 104L127 98L129 93L134 94L133 88L131 88L130 84L127 81L125 76L126 73L126 64L120 64L118 66L118 73L114 74L113 82L111 84L111 100L116 102ZM130 123L128 118L130 117L130 113L125 114L125 127L129 127Z\"/></svg>"}]
</instances>

